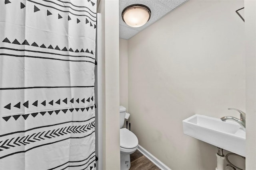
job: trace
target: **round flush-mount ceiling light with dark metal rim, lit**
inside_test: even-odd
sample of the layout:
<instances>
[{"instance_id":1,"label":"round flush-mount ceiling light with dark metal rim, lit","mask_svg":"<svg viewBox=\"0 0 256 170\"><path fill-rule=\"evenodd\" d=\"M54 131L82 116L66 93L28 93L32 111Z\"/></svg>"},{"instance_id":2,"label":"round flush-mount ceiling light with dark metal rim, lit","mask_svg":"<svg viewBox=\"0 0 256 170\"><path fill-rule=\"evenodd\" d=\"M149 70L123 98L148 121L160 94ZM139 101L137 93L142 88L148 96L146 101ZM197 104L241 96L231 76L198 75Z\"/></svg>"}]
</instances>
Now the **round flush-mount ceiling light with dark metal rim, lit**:
<instances>
[{"instance_id":1,"label":"round flush-mount ceiling light with dark metal rim, lit","mask_svg":"<svg viewBox=\"0 0 256 170\"><path fill-rule=\"evenodd\" d=\"M129 5L122 11L123 21L131 27L141 27L150 19L150 9L142 4Z\"/></svg>"}]
</instances>

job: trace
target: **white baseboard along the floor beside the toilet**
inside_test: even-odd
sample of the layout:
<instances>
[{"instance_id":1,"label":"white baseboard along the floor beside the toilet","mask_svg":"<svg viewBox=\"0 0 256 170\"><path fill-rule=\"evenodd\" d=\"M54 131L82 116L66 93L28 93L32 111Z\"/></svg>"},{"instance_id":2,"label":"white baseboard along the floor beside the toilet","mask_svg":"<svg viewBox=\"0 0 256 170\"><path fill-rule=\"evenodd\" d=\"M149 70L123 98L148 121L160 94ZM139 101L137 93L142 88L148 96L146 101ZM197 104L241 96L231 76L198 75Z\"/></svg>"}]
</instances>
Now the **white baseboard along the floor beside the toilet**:
<instances>
[{"instance_id":1,"label":"white baseboard along the floor beside the toilet","mask_svg":"<svg viewBox=\"0 0 256 170\"><path fill-rule=\"evenodd\" d=\"M153 164L155 164L161 170L171 170L168 166L166 166L163 162L158 160L154 155L152 155L148 150L144 149L142 146L138 146L137 149L140 153L142 153L146 158L148 158Z\"/></svg>"}]
</instances>

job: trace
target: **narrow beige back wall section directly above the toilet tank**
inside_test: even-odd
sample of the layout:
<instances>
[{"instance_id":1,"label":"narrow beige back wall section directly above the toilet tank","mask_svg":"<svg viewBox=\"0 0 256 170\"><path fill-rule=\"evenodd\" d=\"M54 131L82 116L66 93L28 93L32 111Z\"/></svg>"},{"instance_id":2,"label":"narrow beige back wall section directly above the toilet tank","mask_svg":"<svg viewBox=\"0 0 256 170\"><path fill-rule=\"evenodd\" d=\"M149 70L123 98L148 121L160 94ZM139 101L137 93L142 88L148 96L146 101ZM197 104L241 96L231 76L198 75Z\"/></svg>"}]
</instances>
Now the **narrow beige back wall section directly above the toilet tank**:
<instances>
[{"instance_id":1,"label":"narrow beige back wall section directly above the toilet tank","mask_svg":"<svg viewBox=\"0 0 256 170\"><path fill-rule=\"evenodd\" d=\"M128 109L128 41L119 39L120 105Z\"/></svg>"}]
</instances>

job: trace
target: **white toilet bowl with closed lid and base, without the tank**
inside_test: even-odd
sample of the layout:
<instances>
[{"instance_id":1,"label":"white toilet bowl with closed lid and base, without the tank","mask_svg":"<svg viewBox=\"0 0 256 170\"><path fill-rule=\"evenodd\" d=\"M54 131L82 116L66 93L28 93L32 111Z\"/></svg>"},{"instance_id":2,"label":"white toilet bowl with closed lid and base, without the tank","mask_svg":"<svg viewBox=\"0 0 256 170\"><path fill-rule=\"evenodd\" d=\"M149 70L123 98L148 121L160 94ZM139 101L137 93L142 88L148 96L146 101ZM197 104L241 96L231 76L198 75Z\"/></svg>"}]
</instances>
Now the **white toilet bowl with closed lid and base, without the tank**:
<instances>
[{"instance_id":1,"label":"white toilet bowl with closed lid and base, without the tank","mask_svg":"<svg viewBox=\"0 0 256 170\"><path fill-rule=\"evenodd\" d=\"M131 167L130 154L138 148L138 138L126 128L120 129L120 165L121 170L129 170Z\"/></svg>"}]
</instances>

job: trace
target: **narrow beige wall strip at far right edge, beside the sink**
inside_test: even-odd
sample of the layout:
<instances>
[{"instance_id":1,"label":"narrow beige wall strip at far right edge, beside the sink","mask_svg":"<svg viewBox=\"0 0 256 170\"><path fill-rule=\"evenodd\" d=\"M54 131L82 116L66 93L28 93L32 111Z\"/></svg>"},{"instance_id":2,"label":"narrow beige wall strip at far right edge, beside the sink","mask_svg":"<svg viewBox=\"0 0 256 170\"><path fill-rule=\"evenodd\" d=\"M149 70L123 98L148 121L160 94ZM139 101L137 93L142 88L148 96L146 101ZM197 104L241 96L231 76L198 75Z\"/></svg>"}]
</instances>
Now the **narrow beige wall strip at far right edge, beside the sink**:
<instances>
[{"instance_id":1,"label":"narrow beige wall strip at far right edge, beside the sink","mask_svg":"<svg viewBox=\"0 0 256 170\"><path fill-rule=\"evenodd\" d=\"M246 170L256 169L256 1L245 0Z\"/></svg>"}]
</instances>

